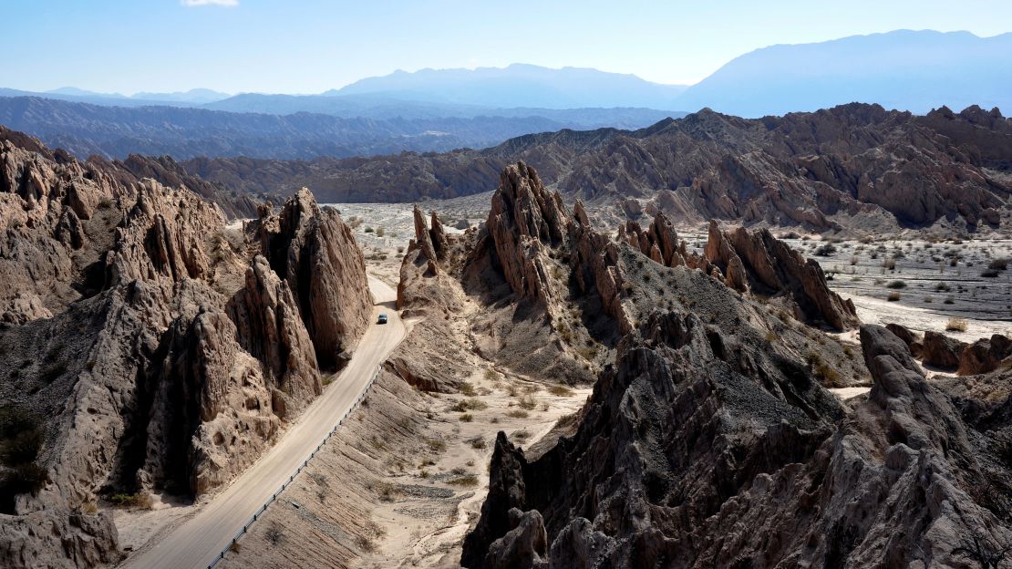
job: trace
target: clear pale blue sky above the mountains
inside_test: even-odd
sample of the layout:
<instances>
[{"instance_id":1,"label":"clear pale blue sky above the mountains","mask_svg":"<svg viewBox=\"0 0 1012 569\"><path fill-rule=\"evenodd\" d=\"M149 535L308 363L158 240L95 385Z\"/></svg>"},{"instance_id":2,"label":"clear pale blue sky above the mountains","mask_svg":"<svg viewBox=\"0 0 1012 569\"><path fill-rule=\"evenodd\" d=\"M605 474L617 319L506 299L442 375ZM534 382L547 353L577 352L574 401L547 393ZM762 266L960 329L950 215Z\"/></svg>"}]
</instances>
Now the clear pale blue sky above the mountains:
<instances>
[{"instance_id":1,"label":"clear pale blue sky above the mountains","mask_svg":"<svg viewBox=\"0 0 1012 569\"><path fill-rule=\"evenodd\" d=\"M696 82L773 44L1012 31L1009 0L4 0L0 86L316 93L397 69L594 67Z\"/></svg>"}]
</instances>

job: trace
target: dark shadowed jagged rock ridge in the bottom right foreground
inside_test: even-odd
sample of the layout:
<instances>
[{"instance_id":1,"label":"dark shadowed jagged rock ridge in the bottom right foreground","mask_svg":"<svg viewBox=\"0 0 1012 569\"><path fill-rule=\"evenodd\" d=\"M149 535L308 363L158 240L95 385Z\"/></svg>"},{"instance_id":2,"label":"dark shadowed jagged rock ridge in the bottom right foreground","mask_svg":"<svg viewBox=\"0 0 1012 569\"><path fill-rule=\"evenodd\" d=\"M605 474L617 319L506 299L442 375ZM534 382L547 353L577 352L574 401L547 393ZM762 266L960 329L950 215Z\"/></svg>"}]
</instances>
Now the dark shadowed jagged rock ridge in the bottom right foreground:
<instances>
[{"instance_id":1,"label":"dark shadowed jagged rock ridge in the bottom right foreground","mask_svg":"<svg viewBox=\"0 0 1012 569\"><path fill-rule=\"evenodd\" d=\"M962 566L1005 551L1010 465L993 444L1007 403L956 407L900 338L863 326L874 383L845 413L752 337L651 317L572 438L528 461L500 435L461 564L543 551L535 511L549 567ZM990 419L961 418L973 401Z\"/></svg>"}]
</instances>

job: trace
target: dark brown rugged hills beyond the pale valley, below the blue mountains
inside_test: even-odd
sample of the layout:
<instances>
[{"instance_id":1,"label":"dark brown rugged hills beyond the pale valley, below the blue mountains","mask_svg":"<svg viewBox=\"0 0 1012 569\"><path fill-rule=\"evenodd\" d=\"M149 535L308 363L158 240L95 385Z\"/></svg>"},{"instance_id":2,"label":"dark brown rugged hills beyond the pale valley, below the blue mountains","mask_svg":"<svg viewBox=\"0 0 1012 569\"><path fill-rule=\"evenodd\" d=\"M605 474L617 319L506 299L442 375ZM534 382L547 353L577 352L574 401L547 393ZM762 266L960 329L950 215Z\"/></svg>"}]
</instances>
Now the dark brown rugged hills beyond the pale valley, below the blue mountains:
<instances>
[{"instance_id":1,"label":"dark brown rugged hills beyond the pale valley, below the blue mountains","mask_svg":"<svg viewBox=\"0 0 1012 569\"><path fill-rule=\"evenodd\" d=\"M527 135L482 151L185 166L241 192L309 185L331 201L412 201L487 191L523 160L564 194L617 202L623 215L656 207L677 223L875 232L951 220L975 230L1007 216L1010 136L997 109L919 116L853 103L759 119L703 109L639 131Z\"/></svg>"}]
</instances>

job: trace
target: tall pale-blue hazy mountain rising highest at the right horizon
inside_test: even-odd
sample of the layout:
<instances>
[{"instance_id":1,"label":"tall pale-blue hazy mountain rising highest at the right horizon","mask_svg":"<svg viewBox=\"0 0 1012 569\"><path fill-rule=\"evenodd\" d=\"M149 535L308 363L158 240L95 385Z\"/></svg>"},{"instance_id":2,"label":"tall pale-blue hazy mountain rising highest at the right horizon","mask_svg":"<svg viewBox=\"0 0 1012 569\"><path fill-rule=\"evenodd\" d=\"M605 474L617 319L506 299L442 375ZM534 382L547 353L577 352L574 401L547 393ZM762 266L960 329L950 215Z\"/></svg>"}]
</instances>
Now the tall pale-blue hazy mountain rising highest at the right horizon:
<instances>
[{"instance_id":1,"label":"tall pale-blue hazy mountain rising highest at the right horizon","mask_svg":"<svg viewBox=\"0 0 1012 569\"><path fill-rule=\"evenodd\" d=\"M1012 33L897 30L756 50L689 87L675 108L745 117L877 103L918 114L1012 107Z\"/></svg>"}]
</instances>

